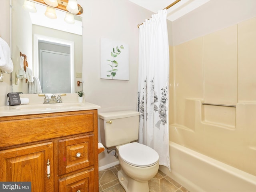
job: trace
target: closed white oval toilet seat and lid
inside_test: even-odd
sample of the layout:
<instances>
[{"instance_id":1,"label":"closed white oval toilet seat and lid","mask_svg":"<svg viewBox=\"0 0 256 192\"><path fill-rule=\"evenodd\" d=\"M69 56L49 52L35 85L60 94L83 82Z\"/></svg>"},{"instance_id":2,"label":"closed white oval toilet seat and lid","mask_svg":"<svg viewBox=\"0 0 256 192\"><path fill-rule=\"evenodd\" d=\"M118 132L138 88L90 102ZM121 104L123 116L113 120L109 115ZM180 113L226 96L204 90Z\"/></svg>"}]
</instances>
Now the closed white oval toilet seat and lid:
<instances>
[{"instance_id":1,"label":"closed white oval toilet seat and lid","mask_svg":"<svg viewBox=\"0 0 256 192\"><path fill-rule=\"evenodd\" d=\"M149 167L159 160L158 153L149 146L133 142L119 147L119 157L137 167Z\"/></svg>"}]
</instances>

